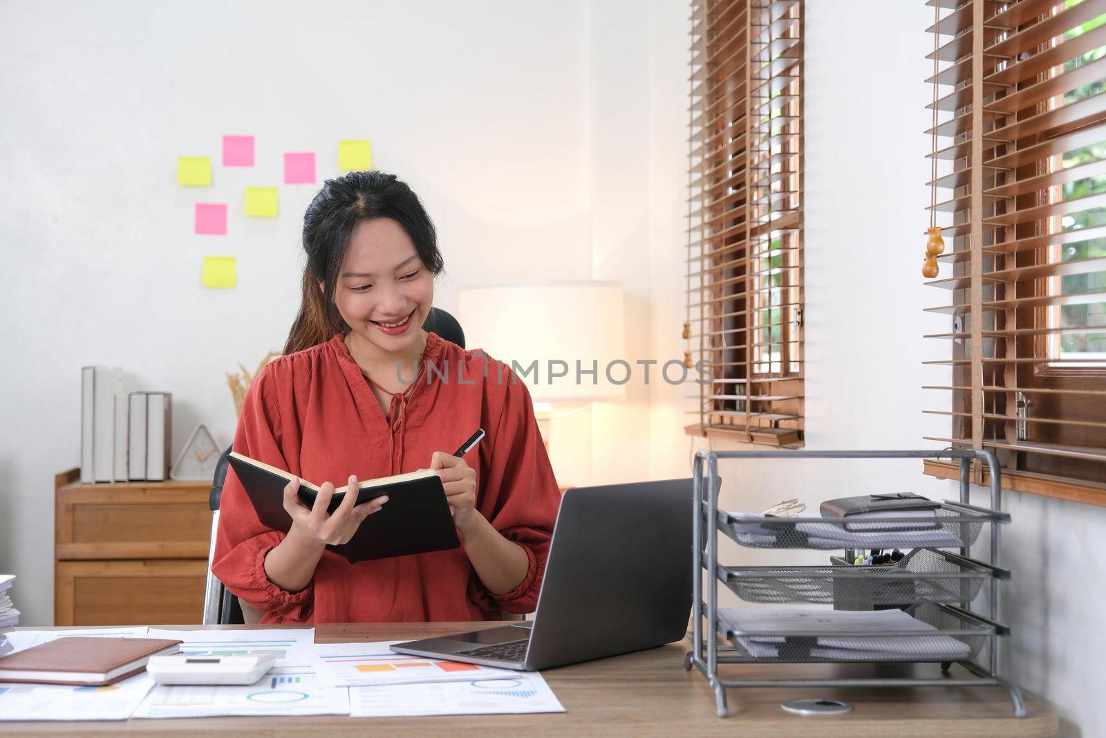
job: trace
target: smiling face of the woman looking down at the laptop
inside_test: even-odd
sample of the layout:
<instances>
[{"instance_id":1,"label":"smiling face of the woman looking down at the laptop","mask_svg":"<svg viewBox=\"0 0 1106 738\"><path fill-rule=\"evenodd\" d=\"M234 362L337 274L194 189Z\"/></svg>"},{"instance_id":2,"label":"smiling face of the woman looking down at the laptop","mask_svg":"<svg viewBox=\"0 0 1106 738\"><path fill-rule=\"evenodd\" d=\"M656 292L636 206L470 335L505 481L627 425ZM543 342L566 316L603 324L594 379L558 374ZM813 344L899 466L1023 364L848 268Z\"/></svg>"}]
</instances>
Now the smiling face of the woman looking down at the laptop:
<instances>
[{"instance_id":1,"label":"smiling face of the woman looking down at the laptop","mask_svg":"<svg viewBox=\"0 0 1106 738\"><path fill-rule=\"evenodd\" d=\"M354 337L385 355L405 354L421 345L432 301L434 276L407 231L390 218L358 222L334 290Z\"/></svg>"}]
</instances>

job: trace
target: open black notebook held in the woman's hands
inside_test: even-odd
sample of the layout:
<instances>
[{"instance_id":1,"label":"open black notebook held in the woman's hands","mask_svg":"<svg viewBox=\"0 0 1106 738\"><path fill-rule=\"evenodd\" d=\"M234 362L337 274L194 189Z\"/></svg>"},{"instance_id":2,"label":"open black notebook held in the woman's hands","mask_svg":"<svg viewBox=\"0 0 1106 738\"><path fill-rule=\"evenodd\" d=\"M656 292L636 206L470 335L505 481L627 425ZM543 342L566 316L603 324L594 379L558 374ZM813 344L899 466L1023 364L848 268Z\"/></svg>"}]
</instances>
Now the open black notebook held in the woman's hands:
<instances>
[{"instance_id":1,"label":"open black notebook held in the woman's hands","mask_svg":"<svg viewBox=\"0 0 1106 738\"><path fill-rule=\"evenodd\" d=\"M292 518L284 510L284 487L292 475L237 451L230 455L230 466L253 503L258 520L286 533L292 527ZM349 563L460 547L441 479L432 471L371 479L359 482L358 488L357 505L382 495L387 495L388 501L378 512L365 518L348 542L326 547L344 555ZM300 499L305 506L311 508L317 493L315 485L300 480ZM334 512L346 493L346 487L335 489L327 511Z\"/></svg>"}]
</instances>

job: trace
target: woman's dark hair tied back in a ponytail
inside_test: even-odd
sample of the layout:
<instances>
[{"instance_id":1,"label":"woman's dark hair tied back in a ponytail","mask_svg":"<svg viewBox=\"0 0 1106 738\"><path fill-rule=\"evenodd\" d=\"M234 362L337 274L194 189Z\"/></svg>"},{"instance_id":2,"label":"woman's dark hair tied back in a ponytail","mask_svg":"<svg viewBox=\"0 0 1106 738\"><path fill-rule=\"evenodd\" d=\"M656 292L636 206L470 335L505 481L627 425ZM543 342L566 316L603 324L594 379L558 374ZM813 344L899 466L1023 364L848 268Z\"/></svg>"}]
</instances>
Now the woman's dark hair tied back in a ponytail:
<instances>
[{"instance_id":1,"label":"woman's dark hair tied back in a ponytail","mask_svg":"<svg viewBox=\"0 0 1106 738\"><path fill-rule=\"evenodd\" d=\"M383 171L351 171L327 179L303 215L307 263L303 269L300 313L288 334L285 354L325 343L335 333L349 330L334 305L334 290L354 228L362 220L376 218L399 224L415 243L422 264L431 274L441 272L434 222L406 183Z\"/></svg>"}]
</instances>

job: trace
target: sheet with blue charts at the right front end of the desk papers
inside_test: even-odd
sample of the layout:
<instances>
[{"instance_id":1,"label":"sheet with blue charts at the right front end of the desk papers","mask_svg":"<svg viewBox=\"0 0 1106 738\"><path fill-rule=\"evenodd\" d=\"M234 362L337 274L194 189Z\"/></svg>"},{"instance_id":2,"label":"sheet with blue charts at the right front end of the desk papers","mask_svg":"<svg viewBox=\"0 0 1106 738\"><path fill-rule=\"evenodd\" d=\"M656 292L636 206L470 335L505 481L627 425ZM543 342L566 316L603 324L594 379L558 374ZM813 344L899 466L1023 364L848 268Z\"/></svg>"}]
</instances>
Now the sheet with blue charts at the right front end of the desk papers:
<instances>
[{"instance_id":1,"label":"sheet with blue charts at the right front end of the desk papers","mask_svg":"<svg viewBox=\"0 0 1106 738\"><path fill-rule=\"evenodd\" d=\"M436 684L352 687L352 717L416 715L502 715L563 713L564 707L536 672L511 678L471 679Z\"/></svg>"}]
</instances>

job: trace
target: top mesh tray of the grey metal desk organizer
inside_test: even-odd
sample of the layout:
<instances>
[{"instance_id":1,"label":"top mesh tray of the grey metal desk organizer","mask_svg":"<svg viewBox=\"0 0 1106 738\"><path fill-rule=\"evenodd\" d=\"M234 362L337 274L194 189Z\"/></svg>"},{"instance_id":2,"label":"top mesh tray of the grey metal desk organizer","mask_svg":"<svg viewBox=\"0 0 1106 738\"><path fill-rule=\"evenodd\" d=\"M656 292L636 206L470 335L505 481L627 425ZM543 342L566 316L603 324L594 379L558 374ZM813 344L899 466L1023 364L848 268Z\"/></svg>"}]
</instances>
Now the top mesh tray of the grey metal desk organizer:
<instances>
[{"instance_id":1,"label":"top mesh tray of the grey metal desk organizer","mask_svg":"<svg viewBox=\"0 0 1106 738\"><path fill-rule=\"evenodd\" d=\"M719 529L741 545L761 549L962 548L979 538L984 523L1010 516L958 502L943 502L932 523L917 518L765 518L718 511Z\"/></svg>"}]
</instances>

